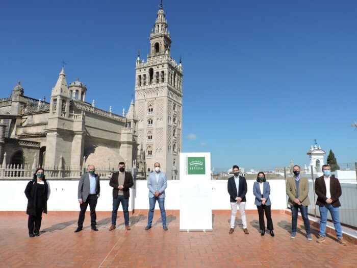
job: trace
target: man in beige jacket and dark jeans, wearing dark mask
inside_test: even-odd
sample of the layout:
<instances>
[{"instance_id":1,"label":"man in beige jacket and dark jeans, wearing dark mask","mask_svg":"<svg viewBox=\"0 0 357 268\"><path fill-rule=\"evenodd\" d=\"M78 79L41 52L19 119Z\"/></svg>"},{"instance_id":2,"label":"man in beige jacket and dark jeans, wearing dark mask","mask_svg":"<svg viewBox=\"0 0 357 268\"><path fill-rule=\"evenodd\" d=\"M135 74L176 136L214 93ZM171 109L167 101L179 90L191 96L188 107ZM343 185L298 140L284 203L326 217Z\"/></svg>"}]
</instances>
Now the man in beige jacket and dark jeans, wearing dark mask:
<instances>
[{"instance_id":1,"label":"man in beige jacket and dark jeans, wearing dark mask","mask_svg":"<svg viewBox=\"0 0 357 268\"><path fill-rule=\"evenodd\" d=\"M308 217L308 206L310 205L309 194L309 181L307 178L300 177L300 166L294 165L294 177L288 178L286 183L286 193L288 194L288 204L291 208L291 236L296 237L297 226L297 212L300 209L303 224L306 230L306 237L312 240L310 232L310 222Z\"/></svg>"}]
</instances>

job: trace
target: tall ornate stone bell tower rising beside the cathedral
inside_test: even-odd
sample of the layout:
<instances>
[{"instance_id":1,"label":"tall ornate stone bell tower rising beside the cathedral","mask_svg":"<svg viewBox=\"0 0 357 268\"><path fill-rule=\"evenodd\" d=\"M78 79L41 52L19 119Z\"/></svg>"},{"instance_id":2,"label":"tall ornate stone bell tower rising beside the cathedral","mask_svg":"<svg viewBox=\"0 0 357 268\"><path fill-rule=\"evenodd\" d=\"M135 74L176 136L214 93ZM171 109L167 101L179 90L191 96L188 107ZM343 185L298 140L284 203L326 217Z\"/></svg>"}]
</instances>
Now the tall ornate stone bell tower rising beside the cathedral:
<instances>
[{"instance_id":1,"label":"tall ornate stone bell tower rising beside the cathedral","mask_svg":"<svg viewBox=\"0 0 357 268\"><path fill-rule=\"evenodd\" d=\"M179 179L182 150L183 68L170 56L171 37L162 1L155 26L151 29L150 54L146 62L136 60L135 105L138 142L145 151L147 172L161 164L168 180Z\"/></svg>"}]
</instances>

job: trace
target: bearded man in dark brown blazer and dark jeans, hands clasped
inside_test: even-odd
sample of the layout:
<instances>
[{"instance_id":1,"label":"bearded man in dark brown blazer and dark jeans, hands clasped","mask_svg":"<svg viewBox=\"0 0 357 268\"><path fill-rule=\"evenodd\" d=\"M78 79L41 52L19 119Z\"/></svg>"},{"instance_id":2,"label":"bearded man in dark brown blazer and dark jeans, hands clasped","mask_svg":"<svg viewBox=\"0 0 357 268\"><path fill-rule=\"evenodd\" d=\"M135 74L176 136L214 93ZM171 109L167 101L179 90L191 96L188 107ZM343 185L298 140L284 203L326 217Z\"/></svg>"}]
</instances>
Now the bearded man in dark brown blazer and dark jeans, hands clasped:
<instances>
[{"instance_id":1,"label":"bearded man in dark brown blazer and dark jeans, hands clasped","mask_svg":"<svg viewBox=\"0 0 357 268\"><path fill-rule=\"evenodd\" d=\"M110 179L109 185L113 187L113 211L112 211L112 226L109 231L115 229L116 217L118 213L119 204L123 208L125 229L130 230L129 227L129 188L134 185L133 176L129 172L125 172L125 163L119 162L119 172L115 172Z\"/></svg>"}]
</instances>

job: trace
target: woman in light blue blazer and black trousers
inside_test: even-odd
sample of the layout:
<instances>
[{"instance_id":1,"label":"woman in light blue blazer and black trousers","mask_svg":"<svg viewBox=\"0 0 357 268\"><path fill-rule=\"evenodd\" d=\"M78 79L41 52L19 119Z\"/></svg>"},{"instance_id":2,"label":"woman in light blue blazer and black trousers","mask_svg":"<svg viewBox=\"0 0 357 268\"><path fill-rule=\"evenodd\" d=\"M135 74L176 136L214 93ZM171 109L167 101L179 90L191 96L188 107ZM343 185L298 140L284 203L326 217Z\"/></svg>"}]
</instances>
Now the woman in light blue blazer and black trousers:
<instances>
[{"instance_id":1,"label":"woman in light blue blazer and black trousers","mask_svg":"<svg viewBox=\"0 0 357 268\"><path fill-rule=\"evenodd\" d=\"M267 217L267 227L270 232L271 236L274 236L274 227L273 221L271 220L271 213L270 213L270 185L265 178L265 174L263 172L258 173L257 181L254 182L253 185L253 193L256 197L256 201L254 204L257 205L258 214L259 214L259 228L262 230L261 235L265 234L265 223L264 223L264 211L265 216Z\"/></svg>"}]
</instances>

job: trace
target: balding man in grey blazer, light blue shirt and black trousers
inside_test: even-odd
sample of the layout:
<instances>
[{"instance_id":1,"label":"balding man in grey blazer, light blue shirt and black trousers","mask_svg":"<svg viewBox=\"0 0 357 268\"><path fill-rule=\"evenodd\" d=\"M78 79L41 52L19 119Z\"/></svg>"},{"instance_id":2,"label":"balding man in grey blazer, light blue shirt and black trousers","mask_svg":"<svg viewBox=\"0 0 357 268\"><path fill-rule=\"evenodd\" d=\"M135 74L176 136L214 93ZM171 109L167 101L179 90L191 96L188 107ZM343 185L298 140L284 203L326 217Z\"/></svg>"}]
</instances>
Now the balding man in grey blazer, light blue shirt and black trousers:
<instances>
[{"instance_id":1,"label":"balding man in grey blazer, light blue shirt and black trousers","mask_svg":"<svg viewBox=\"0 0 357 268\"><path fill-rule=\"evenodd\" d=\"M84 216L88 204L90 208L90 225L93 231L98 231L96 228L97 216L95 214L95 207L100 193L99 176L95 174L94 165L88 165L87 170L88 172L81 176L78 184L78 202L80 203L81 211L78 218L78 228L74 231L75 233L83 229Z\"/></svg>"}]
</instances>

